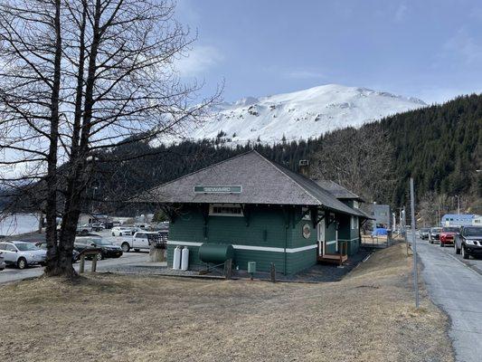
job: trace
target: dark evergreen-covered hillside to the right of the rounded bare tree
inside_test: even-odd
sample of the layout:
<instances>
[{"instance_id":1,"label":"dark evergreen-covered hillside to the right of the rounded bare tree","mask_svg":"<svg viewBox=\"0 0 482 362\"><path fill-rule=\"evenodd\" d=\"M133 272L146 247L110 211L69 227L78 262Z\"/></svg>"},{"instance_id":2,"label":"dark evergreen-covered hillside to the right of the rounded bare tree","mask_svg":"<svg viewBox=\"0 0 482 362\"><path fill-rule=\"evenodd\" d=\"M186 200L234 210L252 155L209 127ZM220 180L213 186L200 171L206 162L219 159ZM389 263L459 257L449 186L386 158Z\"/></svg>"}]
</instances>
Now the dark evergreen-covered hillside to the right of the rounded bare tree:
<instances>
[{"instance_id":1,"label":"dark evergreen-covered hillside to the right of the rounded bare tree","mask_svg":"<svg viewBox=\"0 0 482 362\"><path fill-rule=\"evenodd\" d=\"M482 97L470 95L442 106L383 119L380 127L393 145L393 167L398 177L393 201L404 200L413 176L418 194L482 195ZM478 205L480 207L480 205Z\"/></svg>"}]
</instances>

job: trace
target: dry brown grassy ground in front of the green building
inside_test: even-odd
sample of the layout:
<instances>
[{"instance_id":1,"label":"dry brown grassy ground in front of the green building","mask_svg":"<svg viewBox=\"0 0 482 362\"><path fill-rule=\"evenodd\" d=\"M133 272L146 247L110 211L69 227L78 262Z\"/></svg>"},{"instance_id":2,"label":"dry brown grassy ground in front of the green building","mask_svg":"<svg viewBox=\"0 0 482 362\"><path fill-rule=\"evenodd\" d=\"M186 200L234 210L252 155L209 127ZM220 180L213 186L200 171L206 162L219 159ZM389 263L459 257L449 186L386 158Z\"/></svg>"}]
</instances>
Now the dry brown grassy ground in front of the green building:
<instances>
[{"instance_id":1,"label":"dry brown grassy ground in front of the green building","mask_svg":"<svg viewBox=\"0 0 482 362\"><path fill-rule=\"evenodd\" d=\"M405 246L321 284L97 275L0 288L5 361L453 361Z\"/></svg>"}]
</instances>

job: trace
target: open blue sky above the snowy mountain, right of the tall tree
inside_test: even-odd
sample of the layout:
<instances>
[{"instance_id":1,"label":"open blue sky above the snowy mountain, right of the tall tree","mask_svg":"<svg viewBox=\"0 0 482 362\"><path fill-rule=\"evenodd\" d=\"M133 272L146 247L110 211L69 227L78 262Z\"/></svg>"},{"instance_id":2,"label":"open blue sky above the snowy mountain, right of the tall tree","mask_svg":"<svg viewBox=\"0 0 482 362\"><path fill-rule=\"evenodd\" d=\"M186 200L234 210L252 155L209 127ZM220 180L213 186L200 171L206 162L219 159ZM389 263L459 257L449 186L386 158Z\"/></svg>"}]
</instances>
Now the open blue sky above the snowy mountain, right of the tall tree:
<instances>
[{"instance_id":1,"label":"open blue sky above the snowy mountain, right of the tall tree","mask_svg":"<svg viewBox=\"0 0 482 362\"><path fill-rule=\"evenodd\" d=\"M482 2L178 0L198 32L184 79L223 98L326 83L443 102L482 91Z\"/></svg>"}]
</instances>

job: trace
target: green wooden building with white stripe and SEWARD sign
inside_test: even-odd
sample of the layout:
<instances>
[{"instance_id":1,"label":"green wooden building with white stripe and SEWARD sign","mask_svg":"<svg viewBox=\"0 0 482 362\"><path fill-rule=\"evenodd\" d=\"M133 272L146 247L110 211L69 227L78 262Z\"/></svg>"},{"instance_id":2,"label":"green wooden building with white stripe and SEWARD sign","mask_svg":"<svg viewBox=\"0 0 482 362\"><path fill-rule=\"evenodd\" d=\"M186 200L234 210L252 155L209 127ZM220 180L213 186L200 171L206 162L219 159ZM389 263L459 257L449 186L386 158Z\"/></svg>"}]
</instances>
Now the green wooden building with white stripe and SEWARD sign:
<instances>
[{"instance_id":1,"label":"green wooden building with white stripe and SEWARD sign","mask_svg":"<svg viewBox=\"0 0 482 362\"><path fill-rule=\"evenodd\" d=\"M189 265L202 262L203 243L229 243L241 270L296 273L318 261L344 262L358 251L362 201L345 188L315 182L256 151L149 190L138 202L162 205L170 216L167 261L180 245Z\"/></svg>"}]
</instances>

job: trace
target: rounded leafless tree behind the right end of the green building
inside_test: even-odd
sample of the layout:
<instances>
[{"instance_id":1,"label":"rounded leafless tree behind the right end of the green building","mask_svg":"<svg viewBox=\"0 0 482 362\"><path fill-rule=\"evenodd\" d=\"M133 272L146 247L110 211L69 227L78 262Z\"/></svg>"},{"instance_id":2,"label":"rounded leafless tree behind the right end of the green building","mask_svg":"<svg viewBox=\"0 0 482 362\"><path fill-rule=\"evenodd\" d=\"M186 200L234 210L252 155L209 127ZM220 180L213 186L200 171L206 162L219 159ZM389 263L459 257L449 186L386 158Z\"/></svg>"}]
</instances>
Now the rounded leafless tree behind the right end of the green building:
<instances>
[{"instance_id":1,"label":"rounded leafless tree behind the right end of the green building","mask_svg":"<svg viewBox=\"0 0 482 362\"><path fill-rule=\"evenodd\" d=\"M314 157L314 177L331 179L367 201L392 198L392 145L376 125L326 134Z\"/></svg>"}]
</instances>

